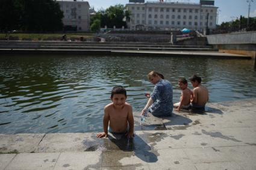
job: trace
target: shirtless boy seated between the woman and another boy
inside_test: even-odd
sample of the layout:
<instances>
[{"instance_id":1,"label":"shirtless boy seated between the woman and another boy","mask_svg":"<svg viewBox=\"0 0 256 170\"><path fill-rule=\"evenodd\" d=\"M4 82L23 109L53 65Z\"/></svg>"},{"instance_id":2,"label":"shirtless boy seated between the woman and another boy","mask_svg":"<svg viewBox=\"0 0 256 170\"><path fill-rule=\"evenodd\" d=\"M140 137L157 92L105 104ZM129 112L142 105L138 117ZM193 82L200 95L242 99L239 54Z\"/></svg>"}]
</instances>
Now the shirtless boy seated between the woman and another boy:
<instances>
[{"instance_id":1,"label":"shirtless boy seated between the woman and another boy","mask_svg":"<svg viewBox=\"0 0 256 170\"><path fill-rule=\"evenodd\" d=\"M190 100L192 100L193 93L191 90L189 90L189 88L187 88L187 80L185 78L180 78L178 85L182 90L180 102L175 103L173 107L177 108L175 111L180 111L181 109L189 109Z\"/></svg>"}]
</instances>

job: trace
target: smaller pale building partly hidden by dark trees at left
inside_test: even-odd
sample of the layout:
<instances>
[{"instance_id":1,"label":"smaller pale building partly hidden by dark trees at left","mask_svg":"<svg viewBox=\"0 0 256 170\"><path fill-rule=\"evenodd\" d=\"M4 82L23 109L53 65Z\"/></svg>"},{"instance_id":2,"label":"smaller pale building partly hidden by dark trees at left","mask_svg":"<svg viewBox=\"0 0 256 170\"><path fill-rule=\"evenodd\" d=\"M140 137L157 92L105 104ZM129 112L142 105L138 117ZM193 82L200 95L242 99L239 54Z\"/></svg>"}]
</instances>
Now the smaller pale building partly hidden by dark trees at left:
<instances>
[{"instance_id":1,"label":"smaller pale building partly hidden by dark trees at left","mask_svg":"<svg viewBox=\"0 0 256 170\"><path fill-rule=\"evenodd\" d=\"M86 1L57 1L63 11L62 19L66 31L90 30L90 5Z\"/></svg>"}]
</instances>

